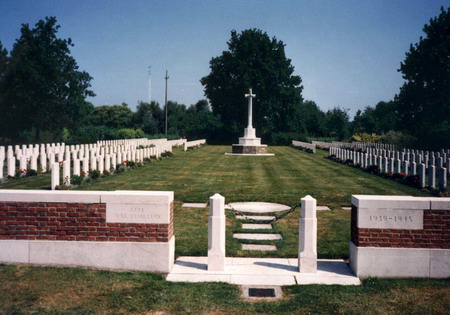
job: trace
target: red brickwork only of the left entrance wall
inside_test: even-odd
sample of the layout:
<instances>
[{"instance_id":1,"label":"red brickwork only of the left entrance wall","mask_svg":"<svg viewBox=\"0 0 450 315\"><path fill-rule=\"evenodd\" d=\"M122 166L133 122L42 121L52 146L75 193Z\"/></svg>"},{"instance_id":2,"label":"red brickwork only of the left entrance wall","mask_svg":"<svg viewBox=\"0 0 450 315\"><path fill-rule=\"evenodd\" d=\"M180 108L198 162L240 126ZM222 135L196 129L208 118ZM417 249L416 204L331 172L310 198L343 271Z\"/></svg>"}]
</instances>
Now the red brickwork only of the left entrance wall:
<instances>
[{"instance_id":1,"label":"red brickwork only of the left entrance wall","mask_svg":"<svg viewBox=\"0 0 450 315\"><path fill-rule=\"evenodd\" d=\"M106 223L106 204L0 202L0 239L168 242L170 224Z\"/></svg>"}]
</instances>

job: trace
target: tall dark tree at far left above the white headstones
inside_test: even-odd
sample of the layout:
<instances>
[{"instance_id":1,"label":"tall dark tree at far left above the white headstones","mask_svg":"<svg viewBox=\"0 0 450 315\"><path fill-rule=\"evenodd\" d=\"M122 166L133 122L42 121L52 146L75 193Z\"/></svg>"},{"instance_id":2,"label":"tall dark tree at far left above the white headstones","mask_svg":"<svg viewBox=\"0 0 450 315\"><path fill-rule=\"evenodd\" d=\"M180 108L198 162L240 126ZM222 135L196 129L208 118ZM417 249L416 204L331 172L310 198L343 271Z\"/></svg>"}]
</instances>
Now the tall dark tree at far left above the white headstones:
<instances>
[{"instance_id":1,"label":"tall dark tree at far left above the white headstones","mask_svg":"<svg viewBox=\"0 0 450 315\"><path fill-rule=\"evenodd\" d=\"M87 96L91 76L79 71L70 55L72 40L60 39L55 17L46 17L34 28L23 24L21 36L11 50L3 80L0 124L12 138L33 130L35 141L41 131L75 127Z\"/></svg>"}]
</instances>

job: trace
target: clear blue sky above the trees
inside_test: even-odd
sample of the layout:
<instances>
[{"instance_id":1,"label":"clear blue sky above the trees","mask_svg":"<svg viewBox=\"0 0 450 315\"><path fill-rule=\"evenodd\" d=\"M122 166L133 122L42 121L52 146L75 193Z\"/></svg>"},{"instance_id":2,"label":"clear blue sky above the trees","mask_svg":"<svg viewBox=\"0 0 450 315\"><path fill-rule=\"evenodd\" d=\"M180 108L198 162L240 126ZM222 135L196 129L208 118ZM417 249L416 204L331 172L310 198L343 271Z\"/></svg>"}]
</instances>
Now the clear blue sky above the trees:
<instances>
[{"instance_id":1,"label":"clear blue sky above the trees","mask_svg":"<svg viewBox=\"0 0 450 315\"><path fill-rule=\"evenodd\" d=\"M9 50L22 23L56 16L60 37L94 79L94 105L148 100L190 105L204 98L199 80L227 49L231 30L259 28L285 44L303 97L323 110L357 109L391 100L402 85L397 69L422 28L450 0L0 0L0 41Z\"/></svg>"}]
</instances>

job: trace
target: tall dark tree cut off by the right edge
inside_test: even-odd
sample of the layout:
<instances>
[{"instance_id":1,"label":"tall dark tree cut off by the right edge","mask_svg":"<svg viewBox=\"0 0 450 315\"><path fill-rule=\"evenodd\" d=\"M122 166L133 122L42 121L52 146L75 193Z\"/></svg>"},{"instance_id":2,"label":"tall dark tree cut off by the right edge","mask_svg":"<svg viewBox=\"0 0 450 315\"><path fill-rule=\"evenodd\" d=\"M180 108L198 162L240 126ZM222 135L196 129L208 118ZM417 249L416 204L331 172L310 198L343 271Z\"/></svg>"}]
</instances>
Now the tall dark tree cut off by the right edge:
<instances>
[{"instance_id":1,"label":"tall dark tree cut off by the right edge","mask_svg":"<svg viewBox=\"0 0 450 315\"><path fill-rule=\"evenodd\" d=\"M423 27L399 71L405 83L396 95L399 127L430 149L450 147L450 8Z\"/></svg>"}]
</instances>

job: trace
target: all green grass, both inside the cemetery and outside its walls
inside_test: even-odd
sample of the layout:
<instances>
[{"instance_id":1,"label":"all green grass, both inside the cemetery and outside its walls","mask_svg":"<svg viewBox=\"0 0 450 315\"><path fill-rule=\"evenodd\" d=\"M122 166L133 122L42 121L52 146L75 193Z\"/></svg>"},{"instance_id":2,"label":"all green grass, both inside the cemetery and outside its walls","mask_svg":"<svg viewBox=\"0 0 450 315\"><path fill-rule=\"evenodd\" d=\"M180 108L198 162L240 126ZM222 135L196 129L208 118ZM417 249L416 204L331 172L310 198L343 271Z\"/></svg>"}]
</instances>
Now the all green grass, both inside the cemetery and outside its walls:
<instances>
[{"instance_id":1,"label":"all green grass, both inside the cemetery and outside its walls","mask_svg":"<svg viewBox=\"0 0 450 315\"><path fill-rule=\"evenodd\" d=\"M215 193L226 202L296 205L311 195L332 211L318 212L319 258L347 258L353 194L427 195L425 192L290 147L270 147L274 157L226 156L229 146L174 151L174 157L83 184L84 190L173 190L176 255L207 254L208 209L182 208ZM50 176L23 178L2 189L49 189ZM273 223L278 250L248 253L232 238L241 222L227 211L227 256L297 257L297 209ZM0 265L0 313L445 313L449 279L367 279L362 286L290 286L275 302L247 302L237 286L169 283L153 273Z\"/></svg>"}]
</instances>

